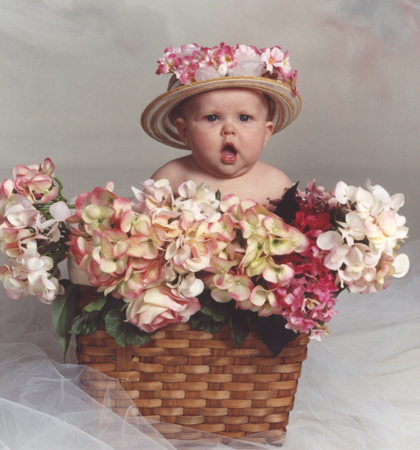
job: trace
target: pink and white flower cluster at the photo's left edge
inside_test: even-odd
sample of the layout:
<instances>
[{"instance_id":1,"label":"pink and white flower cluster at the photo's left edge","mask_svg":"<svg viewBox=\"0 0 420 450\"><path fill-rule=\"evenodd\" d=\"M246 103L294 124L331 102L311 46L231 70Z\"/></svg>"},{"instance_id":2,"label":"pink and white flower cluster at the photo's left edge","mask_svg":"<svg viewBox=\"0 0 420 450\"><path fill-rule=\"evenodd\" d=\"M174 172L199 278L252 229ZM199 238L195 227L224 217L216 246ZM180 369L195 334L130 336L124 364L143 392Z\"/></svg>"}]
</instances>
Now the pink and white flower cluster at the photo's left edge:
<instances>
[{"instance_id":1,"label":"pink and white flower cluster at the photo's left edge","mask_svg":"<svg viewBox=\"0 0 420 450\"><path fill-rule=\"evenodd\" d=\"M0 277L15 300L31 294L50 303L64 292L58 263L67 257L71 212L54 167L49 158L39 166L16 166L13 180L0 186L1 250L8 257Z\"/></svg>"}]
</instances>

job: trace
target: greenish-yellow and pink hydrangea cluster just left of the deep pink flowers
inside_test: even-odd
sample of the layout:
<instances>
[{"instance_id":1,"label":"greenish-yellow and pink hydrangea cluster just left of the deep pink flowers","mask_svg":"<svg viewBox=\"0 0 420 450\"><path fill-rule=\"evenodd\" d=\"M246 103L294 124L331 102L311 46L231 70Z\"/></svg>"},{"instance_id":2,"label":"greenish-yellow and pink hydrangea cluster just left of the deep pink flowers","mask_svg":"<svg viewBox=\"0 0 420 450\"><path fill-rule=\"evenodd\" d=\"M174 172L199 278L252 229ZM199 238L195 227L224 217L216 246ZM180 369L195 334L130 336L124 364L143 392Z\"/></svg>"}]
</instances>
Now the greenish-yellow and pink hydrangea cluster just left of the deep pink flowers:
<instances>
[{"instance_id":1,"label":"greenish-yellow and pink hydrangea cluster just left of the deep pink flowers","mask_svg":"<svg viewBox=\"0 0 420 450\"><path fill-rule=\"evenodd\" d=\"M280 263L279 258L303 252L309 241L253 201L241 202L236 196L227 196L222 201L222 211L219 223L227 223L235 232L222 235L228 243L220 246L205 269L214 273L206 277L212 297L222 303L234 299L238 308L261 316L280 313L276 289L290 283L295 272L287 262ZM220 230L215 226L211 229Z\"/></svg>"}]
</instances>

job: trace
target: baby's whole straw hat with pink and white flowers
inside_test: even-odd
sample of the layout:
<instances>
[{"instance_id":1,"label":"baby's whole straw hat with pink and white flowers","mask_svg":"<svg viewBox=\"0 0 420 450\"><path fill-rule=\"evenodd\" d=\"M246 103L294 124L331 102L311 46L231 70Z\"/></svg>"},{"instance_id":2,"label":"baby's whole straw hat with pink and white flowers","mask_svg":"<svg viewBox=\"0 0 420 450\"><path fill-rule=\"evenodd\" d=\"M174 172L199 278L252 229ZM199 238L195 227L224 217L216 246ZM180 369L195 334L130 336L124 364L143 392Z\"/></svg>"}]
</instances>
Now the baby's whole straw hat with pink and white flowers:
<instances>
[{"instance_id":1,"label":"baby's whole straw hat with pink and white flowers","mask_svg":"<svg viewBox=\"0 0 420 450\"><path fill-rule=\"evenodd\" d=\"M168 91L143 111L141 126L157 141L188 150L181 141L171 115L187 98L213 89L257 89L272 100L270 120L277 133L299 115L302 102L296 87L297 71L289 63L288 51L223 42L220 47L188 44L168 47L158 60L156 73L172 74Z\"/></svg>"}]
</instances>

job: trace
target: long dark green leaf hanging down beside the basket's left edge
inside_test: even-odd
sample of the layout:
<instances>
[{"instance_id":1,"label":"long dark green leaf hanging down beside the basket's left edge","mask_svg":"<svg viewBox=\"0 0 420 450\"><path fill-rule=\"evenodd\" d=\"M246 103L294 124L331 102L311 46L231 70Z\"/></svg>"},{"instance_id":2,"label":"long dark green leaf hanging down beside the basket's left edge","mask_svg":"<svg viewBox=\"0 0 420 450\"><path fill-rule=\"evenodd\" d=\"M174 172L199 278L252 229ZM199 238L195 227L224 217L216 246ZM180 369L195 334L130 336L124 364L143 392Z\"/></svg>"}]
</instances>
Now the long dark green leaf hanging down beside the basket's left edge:
<instances>
[{"instance_id":1,"label":"long dark green leaf hanging down beside the basket's left edge","mask_svg":"<svg viewBox=\"0 0 420 450\"><path fill-rule=\"evenodd\" d=\"M69 280L61 280L60 283L65 287L65 292L54 300L52 316L58 342L63 350L63 361L66 362L66 353L71 338L70 328L76 315L78 288Z\"/></svg>"}]
</instances>

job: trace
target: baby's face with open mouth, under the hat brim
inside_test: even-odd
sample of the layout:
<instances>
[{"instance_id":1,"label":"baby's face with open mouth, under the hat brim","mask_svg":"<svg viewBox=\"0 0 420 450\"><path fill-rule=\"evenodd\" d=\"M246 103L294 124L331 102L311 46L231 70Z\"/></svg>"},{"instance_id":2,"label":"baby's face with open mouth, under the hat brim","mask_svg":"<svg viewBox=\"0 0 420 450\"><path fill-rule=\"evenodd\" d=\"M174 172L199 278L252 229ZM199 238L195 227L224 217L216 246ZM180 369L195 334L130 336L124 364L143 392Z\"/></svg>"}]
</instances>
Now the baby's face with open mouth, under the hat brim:
<instances>
[{"instance_id":1,"label":"baby's face with open mouth, under the hat brim","mask_svg":"<svg viewBox=\"0 0 420 450\"><path fill-rule=\"evenodd\" d=\"M252 89L218 89L197 94L182 106L175 123L195 163L218 178L247 173L273 132L268 104Z\"/></svg>"}]
</instances>

